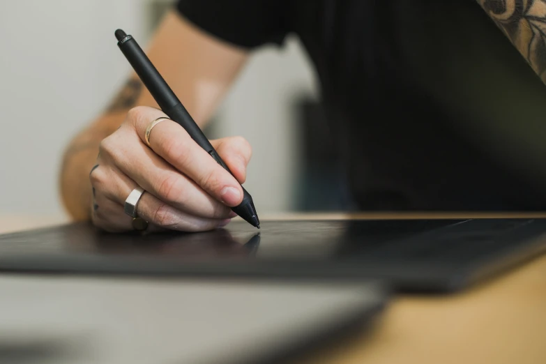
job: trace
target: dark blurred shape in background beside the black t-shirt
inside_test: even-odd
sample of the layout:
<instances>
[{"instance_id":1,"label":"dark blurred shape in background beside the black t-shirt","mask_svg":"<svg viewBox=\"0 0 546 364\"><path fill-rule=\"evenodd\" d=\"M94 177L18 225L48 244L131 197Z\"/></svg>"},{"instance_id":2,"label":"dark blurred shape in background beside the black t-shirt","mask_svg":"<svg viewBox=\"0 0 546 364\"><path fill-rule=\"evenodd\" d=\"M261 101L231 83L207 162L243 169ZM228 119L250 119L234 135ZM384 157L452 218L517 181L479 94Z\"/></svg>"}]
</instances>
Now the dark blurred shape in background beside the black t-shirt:
<instances>
[{"instance_id":1,"label":"dark blurred shape in background beside the black t-shirt","mask_svg":"<svg viewBox=\"0 0 546 364\"><path fill-rule=\"evenodd\" d=\"M301 96L294 105L298 140L301 146L301 171L295 188L296 211L350 211L345 173L339 148L321 104Z\"/></svg>"}]
</instances>

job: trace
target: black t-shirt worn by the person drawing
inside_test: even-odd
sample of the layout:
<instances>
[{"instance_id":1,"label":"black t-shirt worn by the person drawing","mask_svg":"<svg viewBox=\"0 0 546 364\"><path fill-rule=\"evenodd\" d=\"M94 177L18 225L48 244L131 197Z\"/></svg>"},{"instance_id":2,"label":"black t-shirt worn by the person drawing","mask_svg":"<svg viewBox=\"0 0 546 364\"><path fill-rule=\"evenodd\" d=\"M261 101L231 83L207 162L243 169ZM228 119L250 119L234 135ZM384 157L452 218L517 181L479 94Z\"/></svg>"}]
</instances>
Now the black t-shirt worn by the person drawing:
<instances>
[{"instance_id":1,"label":"black t-shirt worn by the person drawing","mask_svg":"<svg viewBox=\"0 0 546 364\"><path fill-rule=\"evenodd\" d=\"M238 47L300 38L362 210L546 207L545 181L520 153L545 132L546 87L475 0L177 7Z\"/></svg>"}]
</instances>

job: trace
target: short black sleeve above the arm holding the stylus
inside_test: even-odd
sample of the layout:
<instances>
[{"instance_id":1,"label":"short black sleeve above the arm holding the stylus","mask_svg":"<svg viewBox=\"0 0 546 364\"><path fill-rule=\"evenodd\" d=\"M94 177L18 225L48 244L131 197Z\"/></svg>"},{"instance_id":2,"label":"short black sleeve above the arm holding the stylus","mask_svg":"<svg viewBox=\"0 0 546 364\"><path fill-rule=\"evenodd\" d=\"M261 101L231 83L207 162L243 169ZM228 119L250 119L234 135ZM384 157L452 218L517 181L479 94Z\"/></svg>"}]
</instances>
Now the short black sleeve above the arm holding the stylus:
<instances>
[{"instance_id":1,"label":"short black sleeve above the arm holding the stylus","mask_svg":"<svg viewBox=\"0 0 546 364\"><path fill-rule=\"evenodd\" d=\"M282 45L289 33L289 0L179 0L182 17L238 47Z\"/></svg>"}]
</instances>

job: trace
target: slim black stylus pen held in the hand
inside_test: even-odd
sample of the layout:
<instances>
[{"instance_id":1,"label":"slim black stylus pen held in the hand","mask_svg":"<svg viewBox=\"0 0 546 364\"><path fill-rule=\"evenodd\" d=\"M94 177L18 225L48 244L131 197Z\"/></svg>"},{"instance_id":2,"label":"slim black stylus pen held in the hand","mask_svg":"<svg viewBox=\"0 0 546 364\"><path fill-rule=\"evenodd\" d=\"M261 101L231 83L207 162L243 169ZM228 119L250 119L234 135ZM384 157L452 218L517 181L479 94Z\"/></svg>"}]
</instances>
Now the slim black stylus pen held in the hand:
<instances>
[{"instance_id":1,"label":"slim black stylus pen held in the hand","mask_svg":"<svg viewBox=\"0 0 546 364\"><path fill-rule=\"evenodd\" d=\"M170 119L179 123L202 149L210 154L219 165L227 170L227 172L232 174L225 162L214 150L211 142L208 142L208 139L206 139L202 130L199 129L197 123L192 119L190 113L188 113L180 100L174 95L174 92L167 82L165 82L165 79L161 77L156 67L153 66L148 56L146 56L142 48L138 45L135 38L128 36L121 29L116 30L115 34L118 40L119 49L123 52L123 55L126 56L132 68L135 69L135 72L142 80L142 83L146 86L146 89L150 91L163 112L165 112ZM256 208L254 207L254 202L252 202L252 197L245 188L243 188L243 202L238 206L232 207L232 210L252 226L259 229L259 219Z\"/></svg>"}]
</instances>

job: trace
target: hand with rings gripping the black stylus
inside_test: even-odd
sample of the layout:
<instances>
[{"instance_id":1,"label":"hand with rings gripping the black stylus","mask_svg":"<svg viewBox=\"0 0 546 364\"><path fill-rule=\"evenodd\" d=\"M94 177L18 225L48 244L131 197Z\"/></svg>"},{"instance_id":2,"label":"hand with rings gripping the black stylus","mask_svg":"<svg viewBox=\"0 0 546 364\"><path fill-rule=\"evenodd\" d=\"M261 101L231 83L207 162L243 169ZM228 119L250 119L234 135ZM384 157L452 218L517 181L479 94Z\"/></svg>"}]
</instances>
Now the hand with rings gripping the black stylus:
<instances>
[{"instance_id":1,"label":"hand with rings gripping the black stylus","mask_svg":"<svg viewBox=\"0 0 546 364\"><path fill-rule=\"evenodd\" d=\"M93 224L108 232L132 230L132 218L123 211L130 192L144 194L137 214L148 230L199 232L223 227L236 216L228 206L243 200L240 183L252 151L242 137L211 141L234 176L174 121L158 123L146 145L144 133L151 121L167 117L152 107L131 109L120 128L100 143L96 166L89 178L93 187Z\"/></svg>"}]
</instances>

